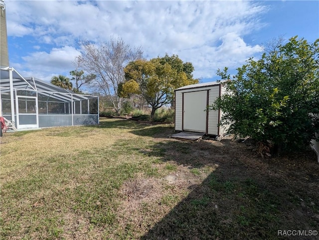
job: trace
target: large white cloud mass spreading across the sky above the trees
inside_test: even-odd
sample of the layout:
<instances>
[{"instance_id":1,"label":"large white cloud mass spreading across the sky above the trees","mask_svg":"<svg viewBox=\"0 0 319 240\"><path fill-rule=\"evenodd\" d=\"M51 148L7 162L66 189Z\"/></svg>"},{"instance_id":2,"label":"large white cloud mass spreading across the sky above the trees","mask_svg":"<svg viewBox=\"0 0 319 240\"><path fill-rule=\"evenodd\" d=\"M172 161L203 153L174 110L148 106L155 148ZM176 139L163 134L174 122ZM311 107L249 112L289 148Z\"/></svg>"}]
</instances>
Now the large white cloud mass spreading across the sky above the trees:
<instances>
[{"instance_id":1,"label":"large white cloud mass spreading across the sky above the trees","mask_svg":"<svg viewBox=\"0 0 319 240\"><path fill-rule=\"evenodd\" d=\"M142 46L149 58L178 54L195 67L195 77L212 77L218 67L238 67L259 52L244 36L263 27L267 10L253 1L6 1L8 34L32 35L52 50L22 54L25 65L47 73L72 70L76 41L120 36ZM12 28L15 29L12 29ZM64 47L65 46L65 47ZM39 71L40 72L40 71ZM43 74L42 74L43 75Z\"/></svg>"}]
</instances>

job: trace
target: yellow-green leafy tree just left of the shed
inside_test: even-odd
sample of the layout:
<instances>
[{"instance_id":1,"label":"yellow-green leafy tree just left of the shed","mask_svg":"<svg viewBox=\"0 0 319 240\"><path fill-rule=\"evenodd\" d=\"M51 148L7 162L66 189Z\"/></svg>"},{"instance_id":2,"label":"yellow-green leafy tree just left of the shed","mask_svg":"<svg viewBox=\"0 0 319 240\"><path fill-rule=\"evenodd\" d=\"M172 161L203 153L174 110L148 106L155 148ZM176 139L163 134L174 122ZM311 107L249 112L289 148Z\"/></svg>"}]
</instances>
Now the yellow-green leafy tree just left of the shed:
<instances>
[{"instance_id":1,"label":"yellow-green leafy tree just left of the shed","mask_svg":"<svg viewBox=\"0 0 319 240\"><path fill-rule=\"evenodd\" d=\"M168 57L166 54L163 58L130 62L124 69L126 82L122 86L122 96L142 95L152 107L151 119L157 109L173 100L174 89L198 82L188 78L182 68L177 70L178 65L169 62L171 59L182 66L178 56Z\"/></svg>"}]
</instances>

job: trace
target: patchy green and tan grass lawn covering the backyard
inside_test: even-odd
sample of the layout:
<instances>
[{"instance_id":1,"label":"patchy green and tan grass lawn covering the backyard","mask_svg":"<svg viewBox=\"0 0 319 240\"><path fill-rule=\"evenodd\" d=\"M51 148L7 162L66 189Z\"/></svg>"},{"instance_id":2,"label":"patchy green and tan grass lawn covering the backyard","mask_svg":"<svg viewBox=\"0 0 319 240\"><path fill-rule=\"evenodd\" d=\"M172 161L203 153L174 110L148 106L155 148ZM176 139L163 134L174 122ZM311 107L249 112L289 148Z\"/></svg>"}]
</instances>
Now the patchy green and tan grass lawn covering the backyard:
<instances>
[{"instance_id":1,"label":"patchy green and tan grass lawn covering the backyard","mask_svg":"<svg viewBox=\"0 0 319 240\"><path fill-rule=\"evenodd\" d=\"M245 144L182 142L169 125L5 133L0 239L317 240L319 164ZM278 236L278 231L307 231ZM296 233L296 232L294 232Z\"/></svg>"}]
</instances>

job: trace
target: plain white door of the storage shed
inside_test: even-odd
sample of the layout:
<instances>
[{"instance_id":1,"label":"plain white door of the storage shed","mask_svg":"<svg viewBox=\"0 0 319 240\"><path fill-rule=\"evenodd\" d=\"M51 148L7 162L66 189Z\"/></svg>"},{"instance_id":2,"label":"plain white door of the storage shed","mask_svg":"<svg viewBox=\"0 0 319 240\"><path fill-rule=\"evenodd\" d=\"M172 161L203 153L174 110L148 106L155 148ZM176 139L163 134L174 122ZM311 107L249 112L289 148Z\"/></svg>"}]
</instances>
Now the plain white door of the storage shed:
<instances>
[{"instance_id":1,"label":"plain white door of the storage shed","mask_svg":"<svg viewBox=\"0 0 319 240\"><path fill-rule=\"evenodd\" d=\"M207 91L185 92L183 98L183 130L206 132Z\"/></svg>"}]
</instances>

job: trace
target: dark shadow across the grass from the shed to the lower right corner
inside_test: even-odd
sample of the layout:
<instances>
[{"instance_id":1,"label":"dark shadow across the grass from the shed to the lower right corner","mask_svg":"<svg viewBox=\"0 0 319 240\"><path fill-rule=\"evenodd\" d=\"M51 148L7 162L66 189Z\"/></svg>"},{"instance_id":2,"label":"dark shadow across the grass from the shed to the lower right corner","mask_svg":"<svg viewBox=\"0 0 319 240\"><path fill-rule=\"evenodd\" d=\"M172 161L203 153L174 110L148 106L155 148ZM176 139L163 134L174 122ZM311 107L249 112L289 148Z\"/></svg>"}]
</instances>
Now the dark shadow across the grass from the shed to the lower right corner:
<instances>
[{"instance_id":1,"label":"dark shadow across the grass from the shed to the lower right corner","mask_svg":"<svg viewBox=\"0 0 319 240\"><path fill-rule=\"evenodd\" d=\"M200 185L190 186L187 197L142 240L276 240L285 239L278 236L278 230L318 227L310 217L318 208L301 207L298 199L298 196L316 199L318 193L309 194L309 189L296 184L288 187L285 177L249 168L243 161L247 157L245 151L239 150L236 155L227 146L181 141L154 143L150 149L144 154L163 162L174 161L199 171L213 164L218 167ZM298 236L298 239L309 237Z\"/></svg>"}]
</instances>

